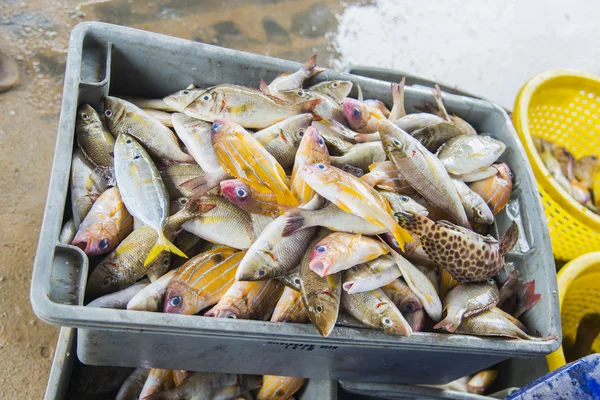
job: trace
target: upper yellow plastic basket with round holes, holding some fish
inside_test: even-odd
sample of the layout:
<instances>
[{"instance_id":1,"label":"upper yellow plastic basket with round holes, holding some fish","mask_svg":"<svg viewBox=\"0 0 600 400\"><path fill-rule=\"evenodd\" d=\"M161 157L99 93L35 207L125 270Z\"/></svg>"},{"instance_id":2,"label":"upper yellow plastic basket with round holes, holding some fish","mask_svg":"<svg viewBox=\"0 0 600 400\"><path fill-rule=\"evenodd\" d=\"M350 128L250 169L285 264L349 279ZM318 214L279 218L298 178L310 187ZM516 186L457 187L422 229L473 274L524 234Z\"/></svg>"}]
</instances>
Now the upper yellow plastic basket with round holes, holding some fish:
<instances>
[{"instance_id":1,"label":"upper yellow plastic basket with round holes, holding some fish","mask_svg":"<svg viewBox=\"0 0 600 400\"><path fill-rule=\"evenodd\" d=\"M600 216L557 184L532 141L544 138L577 158L600 156L600 77L572 70L533 77L519 92L513 122L538 181L554 256L568 261L600 251Z\"/></svg>"}]
</instances>

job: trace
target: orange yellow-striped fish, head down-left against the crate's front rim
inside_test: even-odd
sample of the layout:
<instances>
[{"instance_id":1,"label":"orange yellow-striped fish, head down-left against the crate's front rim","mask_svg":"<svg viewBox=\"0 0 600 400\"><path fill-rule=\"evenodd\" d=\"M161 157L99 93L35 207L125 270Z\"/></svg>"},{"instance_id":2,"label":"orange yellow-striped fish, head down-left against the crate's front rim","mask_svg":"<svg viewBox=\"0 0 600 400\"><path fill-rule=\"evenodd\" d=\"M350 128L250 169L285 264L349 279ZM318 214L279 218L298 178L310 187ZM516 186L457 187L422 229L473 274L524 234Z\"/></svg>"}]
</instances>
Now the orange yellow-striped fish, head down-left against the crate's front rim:
<instances>
[{"instance_id":1,"label":"orange yellow-striped fish, head down-left against the crate's front rim","mask_svg":"<svg viewBox=\"0 0 600 400\"><path fill-rule=\"evenodd\" d=\"M169 283L163 311L196 314L218 302L235 281L244 254L231 247L219 247L190 259Z\"/></svg>"}]
</instances>

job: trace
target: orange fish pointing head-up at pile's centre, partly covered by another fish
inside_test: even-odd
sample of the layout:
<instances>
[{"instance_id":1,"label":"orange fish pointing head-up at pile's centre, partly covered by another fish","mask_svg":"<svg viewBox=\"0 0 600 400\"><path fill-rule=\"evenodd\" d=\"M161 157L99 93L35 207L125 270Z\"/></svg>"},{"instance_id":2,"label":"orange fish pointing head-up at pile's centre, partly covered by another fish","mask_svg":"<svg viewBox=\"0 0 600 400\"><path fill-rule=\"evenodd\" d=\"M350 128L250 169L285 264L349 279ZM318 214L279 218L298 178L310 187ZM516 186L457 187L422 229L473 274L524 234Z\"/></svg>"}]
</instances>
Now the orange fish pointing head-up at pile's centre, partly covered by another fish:
<instances>
[{"instance_id":1,"label":"orange fish pointing head-up at pile's centre, partly covered by another fish","mask_svg":"<svg viewBox=\"0 0 600 400\"><path fill-rule=\"evenodd\" d=\"M315 195L315 192L298 176L298 171L305 165L318 163L329 165L329 151L319 131L309 126L302 137L300 147L298 147L291 179L292 193L296 196L300 204L308 203Z\"/></svg>"}]
</instances>

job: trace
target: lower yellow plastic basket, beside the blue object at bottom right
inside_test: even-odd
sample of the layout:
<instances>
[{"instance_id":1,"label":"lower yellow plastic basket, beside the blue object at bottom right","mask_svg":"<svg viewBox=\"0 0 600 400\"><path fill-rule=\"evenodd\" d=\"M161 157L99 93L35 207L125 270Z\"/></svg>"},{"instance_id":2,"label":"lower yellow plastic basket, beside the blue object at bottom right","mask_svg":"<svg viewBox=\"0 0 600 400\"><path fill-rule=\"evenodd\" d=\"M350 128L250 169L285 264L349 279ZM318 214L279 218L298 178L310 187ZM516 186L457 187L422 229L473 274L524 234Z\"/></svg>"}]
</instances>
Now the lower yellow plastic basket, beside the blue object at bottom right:
<instances>
[{"instance_id":1,"label":"lower yellow plastic basket, beside the blue object at bottom right","mask_svg":"<svg viewBox=\"0 0 600 400\"><path fill-rule=\"evenodd\" d=\"M563 343L574 343L579 321L586 314L600 313L600 252L589 253L567 263L558 271L558 300ZM592 349L598 351L598 340ZM562 346L546 356L554 371L565 365Z\"/></svg>"}]
</instances>

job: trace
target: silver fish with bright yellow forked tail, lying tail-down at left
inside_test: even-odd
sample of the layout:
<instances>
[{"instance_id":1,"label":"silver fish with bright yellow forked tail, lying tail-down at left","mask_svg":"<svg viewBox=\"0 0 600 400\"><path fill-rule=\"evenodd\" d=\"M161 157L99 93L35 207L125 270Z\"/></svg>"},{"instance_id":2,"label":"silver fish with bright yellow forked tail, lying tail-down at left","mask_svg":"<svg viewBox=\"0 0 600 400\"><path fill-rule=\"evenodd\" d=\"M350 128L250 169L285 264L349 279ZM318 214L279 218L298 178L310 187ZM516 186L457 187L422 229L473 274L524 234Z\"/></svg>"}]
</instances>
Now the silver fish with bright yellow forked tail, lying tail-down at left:
<instances>
[{"instance_id":1,"label":"silver fish with bright yellow forked tail, lying tail-down at left","mask_svg":"<svg viewBox=\"0 0 600 400\"><path fill-rule=\"evenodd\" d=\"M127 210L158 234L144 265L150 264L163 250L187 258L164 233L169 216L169 195L160 173L146 150L132 136L124 133L119 135L115 144L115 176Z\"/></svg>"}]
</instances>

